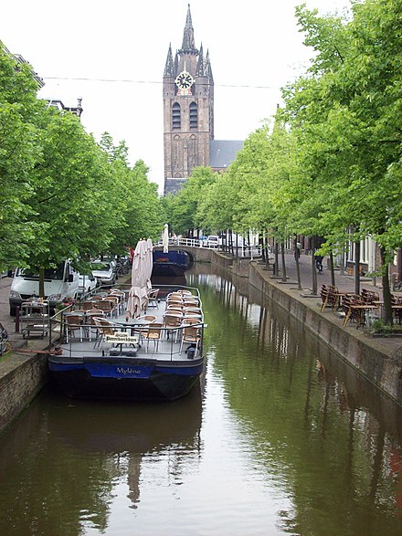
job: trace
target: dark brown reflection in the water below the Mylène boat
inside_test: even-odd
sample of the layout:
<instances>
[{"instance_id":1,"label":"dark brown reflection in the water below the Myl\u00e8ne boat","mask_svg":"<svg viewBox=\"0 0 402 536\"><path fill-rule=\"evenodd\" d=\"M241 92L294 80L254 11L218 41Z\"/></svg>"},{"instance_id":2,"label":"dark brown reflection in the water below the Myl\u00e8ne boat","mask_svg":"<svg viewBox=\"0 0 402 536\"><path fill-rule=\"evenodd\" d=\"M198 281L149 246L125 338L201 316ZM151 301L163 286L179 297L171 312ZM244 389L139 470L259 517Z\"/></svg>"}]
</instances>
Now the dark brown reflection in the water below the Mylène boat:
<instances>
[{"instance_id":1,"label":"dark brown reflection in the water below the Myl\u00e8ne boat","mask_svg":"<svg viewBox=\"0 0 402 536\"><path fill-rule=\"evenodd\" d=\"M198 388L164 405L71 401L46 390L0 438L0 533L106 531L116 489L139 508L144 460L168 457L168 478L184 478L185 453L200 449L201 407Z\"/></svg>"}]
</instances>

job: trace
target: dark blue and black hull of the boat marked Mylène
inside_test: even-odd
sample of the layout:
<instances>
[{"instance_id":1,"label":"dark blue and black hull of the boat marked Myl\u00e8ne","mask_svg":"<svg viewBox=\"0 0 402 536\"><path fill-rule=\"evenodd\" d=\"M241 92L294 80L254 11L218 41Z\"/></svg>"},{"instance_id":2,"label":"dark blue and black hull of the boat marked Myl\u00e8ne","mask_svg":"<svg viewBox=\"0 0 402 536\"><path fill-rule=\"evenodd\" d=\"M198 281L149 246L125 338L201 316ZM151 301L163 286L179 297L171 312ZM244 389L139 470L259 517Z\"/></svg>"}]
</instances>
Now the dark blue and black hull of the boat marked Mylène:
<instances>
[{"instance_id":1,"label":"dark blue and black hull of the boat marked Myl\u00e8ne","mask_svg":"<svg viewBox=\"0 0 402 536\"><path fill-rule=\"evenodd\" d=\"M139 363L86 358L71 363L50 358L49 370L60 390L74 398L175 400L185 396L203 372L204 359L178 363Z\"/></svg>"}]
</instances>

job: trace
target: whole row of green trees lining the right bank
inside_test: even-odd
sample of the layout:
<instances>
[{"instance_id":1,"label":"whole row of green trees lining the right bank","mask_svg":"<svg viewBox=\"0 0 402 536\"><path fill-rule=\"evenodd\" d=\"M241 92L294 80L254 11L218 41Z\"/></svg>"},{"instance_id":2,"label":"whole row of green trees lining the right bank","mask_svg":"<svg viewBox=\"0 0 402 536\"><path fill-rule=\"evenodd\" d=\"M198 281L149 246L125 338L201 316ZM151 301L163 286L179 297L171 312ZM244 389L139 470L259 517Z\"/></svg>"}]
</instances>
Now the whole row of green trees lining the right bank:
<instances>
[{"instance_id":1,"label":"whole row of green trees lining the right bank","mask_svg":"<svg viewBox=\"0 0 402 536\"><path fill-rule=\"evenodd\" d=\"M311 65L227 173L198 168L166 200L176 232L249 228L283 242L323 236L323 253L371 236L386 267L402 246L402 0L353 2L342 16L296 9ZM355 270L358 273L358 265Z\"/></svg>"}]
</instances>

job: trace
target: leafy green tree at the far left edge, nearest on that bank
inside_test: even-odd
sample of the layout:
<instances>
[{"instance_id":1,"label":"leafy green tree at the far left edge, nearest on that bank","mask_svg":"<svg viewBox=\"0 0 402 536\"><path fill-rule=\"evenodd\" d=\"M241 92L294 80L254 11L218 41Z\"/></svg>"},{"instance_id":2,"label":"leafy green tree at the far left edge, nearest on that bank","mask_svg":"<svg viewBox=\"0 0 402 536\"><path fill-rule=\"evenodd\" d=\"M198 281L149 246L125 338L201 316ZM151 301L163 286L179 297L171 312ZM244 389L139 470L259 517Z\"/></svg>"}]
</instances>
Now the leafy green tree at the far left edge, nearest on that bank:
<instances>
[{"instance_id":1,"label":"leafy green tree at the far left edge, nearest on that bank","mask_svg":"<svg viewBox=\"0 0 402 536\"><path fill-rule=\"evenodd\" d=\"M35 117L43 104L37 89L31 68L0 42L0 271L26 259L40 231L27 204L34 188L31 172L41 155Z\"/></svg>"}]
</instances>

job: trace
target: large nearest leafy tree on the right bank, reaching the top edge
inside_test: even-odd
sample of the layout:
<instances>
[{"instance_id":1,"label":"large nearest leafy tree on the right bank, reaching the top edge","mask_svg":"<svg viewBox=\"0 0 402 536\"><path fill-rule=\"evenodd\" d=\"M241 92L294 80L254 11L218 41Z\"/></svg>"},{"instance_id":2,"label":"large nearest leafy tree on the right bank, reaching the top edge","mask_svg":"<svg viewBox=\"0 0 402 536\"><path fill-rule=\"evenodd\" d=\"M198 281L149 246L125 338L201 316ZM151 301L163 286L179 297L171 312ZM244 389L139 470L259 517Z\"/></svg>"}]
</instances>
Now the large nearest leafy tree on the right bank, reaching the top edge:
<instances>
[{"instance_id":1,"label":"large nearest leafy tree on the right bank, reaching the top edge","mask_svg":"<svg viewBox=\"0 0 402 536\"><path fill-rule=\"evenodd\" d=\"M354 18L348 20L318 17L300 7L305 43L317 55L309 76L286 95L309 203L313 198L317 208L321 205L320 227L334 244L342 245L351 230L356 244L364 236L376 239L384 250L386 303L387 264L402 238L400 226L397 230L401 51L396 22L401 6L400 1L367 0L353 5Z\"/></svg>"}]
</instances>

